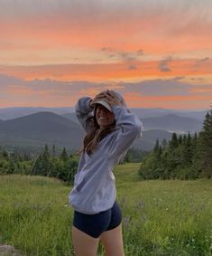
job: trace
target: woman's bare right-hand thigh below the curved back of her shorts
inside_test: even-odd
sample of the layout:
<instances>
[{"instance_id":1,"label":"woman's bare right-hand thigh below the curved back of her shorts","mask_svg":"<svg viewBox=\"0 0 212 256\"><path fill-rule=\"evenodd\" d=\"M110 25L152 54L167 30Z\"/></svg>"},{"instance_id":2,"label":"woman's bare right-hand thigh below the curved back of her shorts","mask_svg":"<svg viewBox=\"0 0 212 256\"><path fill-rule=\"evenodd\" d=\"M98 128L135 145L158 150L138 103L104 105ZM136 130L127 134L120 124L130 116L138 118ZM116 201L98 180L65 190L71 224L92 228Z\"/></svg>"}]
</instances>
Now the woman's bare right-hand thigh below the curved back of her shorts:
<instances>
[{"instance_id":1,"label":"woman's bare right-hand thigh below the curved back of her shorts","mask_svg":"<svg viewBox=\"0 0 212 256\"><path fill-rule=\"evenodd\" d=\"M106 256L124 256L122 223L113 230L103 232L100 236Z\"/></svg>"}]
</instances>

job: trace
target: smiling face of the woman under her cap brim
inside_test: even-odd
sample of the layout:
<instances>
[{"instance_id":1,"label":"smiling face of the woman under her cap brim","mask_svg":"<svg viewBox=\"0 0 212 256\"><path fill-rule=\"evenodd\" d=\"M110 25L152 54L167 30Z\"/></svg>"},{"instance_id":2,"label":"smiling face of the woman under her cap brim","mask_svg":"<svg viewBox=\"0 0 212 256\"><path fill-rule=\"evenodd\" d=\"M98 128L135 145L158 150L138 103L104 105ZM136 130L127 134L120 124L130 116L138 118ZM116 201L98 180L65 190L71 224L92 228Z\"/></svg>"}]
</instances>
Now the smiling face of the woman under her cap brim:
<instances>
[{"instance_id":1,"label":"smiling face of the woman under her cap brim","mask_svg":"<svg viewBox=\"0 0 212 256\"><path fill-rule=\"evenodd\" d=\"M100 128L106 128L115 122L115 114L97 104L96 119Z\"/></svg>"}]
</instances>

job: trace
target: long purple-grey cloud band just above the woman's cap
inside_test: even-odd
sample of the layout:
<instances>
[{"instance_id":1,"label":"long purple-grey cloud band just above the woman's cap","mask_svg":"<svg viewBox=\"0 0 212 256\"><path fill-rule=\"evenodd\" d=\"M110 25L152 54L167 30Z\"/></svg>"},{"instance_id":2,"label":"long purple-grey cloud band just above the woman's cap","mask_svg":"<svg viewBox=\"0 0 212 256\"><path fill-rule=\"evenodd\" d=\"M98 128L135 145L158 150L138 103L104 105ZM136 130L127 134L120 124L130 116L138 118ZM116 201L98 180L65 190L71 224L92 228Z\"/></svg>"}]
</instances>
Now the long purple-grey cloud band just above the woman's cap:
<instances>
[{"instance_id":1,"label":"long purple-grey cloud band just above the woman's cap","mask_svg":"<svg viewBox=\"0 0 212 256\"><path fill-rule=\"evenodd\" d=\"M46 91L57 95L79 95L88 90L100 92L107 88L117 89L123 93L136 92L144 96L169 96L169 95L188 95L191 89L208 89L211 85L191 85L183 82L183 77L176 77L169 80L146 80L140 82L89 82L89 81L55 81L51 79L24 81L11 76L0 75L0 86L2 88L25 87L32 93Z\"/></svg>"}]
</instances>

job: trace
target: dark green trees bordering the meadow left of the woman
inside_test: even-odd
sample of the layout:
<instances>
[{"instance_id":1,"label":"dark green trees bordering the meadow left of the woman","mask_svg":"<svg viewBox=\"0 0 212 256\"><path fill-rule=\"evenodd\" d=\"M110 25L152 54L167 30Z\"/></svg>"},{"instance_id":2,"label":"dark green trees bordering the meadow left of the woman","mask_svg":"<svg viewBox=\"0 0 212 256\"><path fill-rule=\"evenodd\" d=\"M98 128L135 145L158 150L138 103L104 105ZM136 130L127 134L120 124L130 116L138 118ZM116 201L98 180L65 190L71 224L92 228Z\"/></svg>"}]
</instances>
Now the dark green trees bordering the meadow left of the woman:
<instances>
[{"instance_id":1,"label":"dark green trees bordering the meadow left of the woman","mask_svg":"<svg viewBox=\"0 0 212 256\"><path fill-rule=\"evenodd\" d=\"M25 153L22 155L17 150L9 154L4 148L0 148L0 175L43 175L73 183L77 169L78 156L68 155L65 147L59 156L56 156L55 145L51 152L48 145L45 145L35 157Z\"/></svg>"}]
</instances>

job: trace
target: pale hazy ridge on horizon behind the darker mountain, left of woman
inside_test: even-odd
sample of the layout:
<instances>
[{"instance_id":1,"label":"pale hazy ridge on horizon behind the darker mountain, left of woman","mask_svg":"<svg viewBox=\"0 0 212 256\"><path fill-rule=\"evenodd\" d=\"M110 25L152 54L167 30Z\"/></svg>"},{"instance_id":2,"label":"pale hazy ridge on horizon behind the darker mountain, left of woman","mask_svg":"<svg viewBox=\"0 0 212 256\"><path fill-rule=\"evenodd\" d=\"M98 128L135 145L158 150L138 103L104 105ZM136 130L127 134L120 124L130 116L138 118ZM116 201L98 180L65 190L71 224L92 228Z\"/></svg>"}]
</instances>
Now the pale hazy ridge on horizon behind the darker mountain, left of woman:
<instances>
[{"instance_id":1,"label":"pale hazy ridge on horizon behind the darker mountain, left of woman","mask_svg":"<svg viewBox=\"0 0 212 256\"><path fill-rule=\"evenodd\" d=\"M0 109L0 119L15 119L23 116L31 115L33 113L41 112L41 111L50 111L55 114L65 114L67 112L73 112L74 108L44 108L44 107L16 107L16 108L6 108Z\"/></svg>"}]
</instances>

